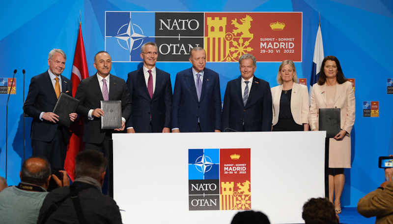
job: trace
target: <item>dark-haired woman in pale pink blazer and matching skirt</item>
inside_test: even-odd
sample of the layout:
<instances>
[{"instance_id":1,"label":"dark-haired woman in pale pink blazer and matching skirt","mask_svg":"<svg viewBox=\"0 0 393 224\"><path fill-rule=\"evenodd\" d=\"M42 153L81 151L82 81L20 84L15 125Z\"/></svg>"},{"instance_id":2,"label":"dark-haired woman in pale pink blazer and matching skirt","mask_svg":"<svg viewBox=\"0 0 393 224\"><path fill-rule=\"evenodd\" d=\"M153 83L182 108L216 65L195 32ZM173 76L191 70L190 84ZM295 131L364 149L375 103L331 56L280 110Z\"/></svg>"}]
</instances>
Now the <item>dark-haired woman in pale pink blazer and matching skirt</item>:
<instances>
[{"instance_id":1,"label":"dark-haired woman in pale pink blazer and matching skirt","mask_svg":"<svg viewBox=\"0 0 393 224\"><path fill-rule=\"evenodd\" d=\"M355 94L342 73L335 56L327 56L321 65L318 83L312 86L309 112L311 130L318 130L319 108L340 108L341 130L329 139L329 200L341 213L340 197L344 189L344 168L351 168L351 137L355 123ZM334 200L333 200L334 199Z\"/></svg>"}]
</instances>

